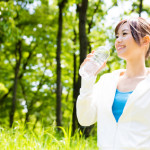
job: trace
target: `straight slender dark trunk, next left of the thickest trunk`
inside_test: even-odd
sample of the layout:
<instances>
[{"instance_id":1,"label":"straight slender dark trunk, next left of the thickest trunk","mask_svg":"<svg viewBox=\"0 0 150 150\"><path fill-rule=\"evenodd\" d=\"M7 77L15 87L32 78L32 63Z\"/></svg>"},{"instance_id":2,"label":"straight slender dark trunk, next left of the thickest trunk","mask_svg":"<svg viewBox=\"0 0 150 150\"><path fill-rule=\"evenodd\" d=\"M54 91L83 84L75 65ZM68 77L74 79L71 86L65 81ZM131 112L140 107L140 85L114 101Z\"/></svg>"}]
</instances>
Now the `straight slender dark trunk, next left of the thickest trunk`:
<instances>
[{"instance_id":1,"label":"straight slender dark trunk, next left of the thickest trunk","mask_svg":"<svg viewBox=\"0 0 150 150\"><path fill-rule=\"evenodd\" d=\"M61 85L61 38L62 38L62 24L63 24L63 18L62 18L62 10L65 6L65 3L67 0L63 0L60 2L59 5L59 18L58 18L58 34L57 34L57 88L56 88L56 123L57 126L61 126L61 120L62 120L62 112L61 112L61 93L62 93L62 85Z\"/></svg>"}]
</instances>

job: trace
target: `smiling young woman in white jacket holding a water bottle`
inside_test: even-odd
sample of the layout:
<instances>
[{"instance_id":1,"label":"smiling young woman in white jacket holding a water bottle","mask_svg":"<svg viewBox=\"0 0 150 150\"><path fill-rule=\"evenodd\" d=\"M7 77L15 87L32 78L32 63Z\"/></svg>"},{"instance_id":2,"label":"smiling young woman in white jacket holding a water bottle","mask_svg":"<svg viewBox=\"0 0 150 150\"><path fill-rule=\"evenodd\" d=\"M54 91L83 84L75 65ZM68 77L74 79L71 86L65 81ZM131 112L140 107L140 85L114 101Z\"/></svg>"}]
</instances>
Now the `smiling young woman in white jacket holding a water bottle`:
<instances>
[{"instance_id":1,"label":"smiling young woman in white jacket holding a water bottle","mask_svg":"<svg viewBox=\"0 0 150 150\"><path fill-rule=\"evenodd\" d=\"M150 150L150 24L143 18L122 20L115 29L115 47L126 69L82 79L77 117L82 126L97 121L102 150ZM87 55L81 67L90 61ZM99 69L105 66L105 64Z\"/></svg>"}]
</instances>

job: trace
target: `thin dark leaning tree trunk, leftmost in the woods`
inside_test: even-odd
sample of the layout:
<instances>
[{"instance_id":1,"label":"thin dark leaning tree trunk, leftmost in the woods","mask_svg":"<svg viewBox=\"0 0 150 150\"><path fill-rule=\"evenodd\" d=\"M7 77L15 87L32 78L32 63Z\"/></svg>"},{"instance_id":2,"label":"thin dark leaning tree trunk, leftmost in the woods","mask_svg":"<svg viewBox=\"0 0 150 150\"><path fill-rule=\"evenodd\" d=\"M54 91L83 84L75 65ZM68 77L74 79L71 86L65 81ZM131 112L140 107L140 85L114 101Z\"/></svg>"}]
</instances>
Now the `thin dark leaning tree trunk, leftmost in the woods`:
<instances>
[{"instance_id":1,"label":"thin dark leaning tree trunk, leftmost in the woods","mask_svg":"<svg viewBox=\"0 0 150 150\"><path fill-rule=\"evenodd\" d=\"M19 58L17 58L19 54ZM13 98L12 98L12 106L10 111L10 127L12 127L14 122L14 113L16 108L16 94L17 94L17 82L18 82L18 74L19 74L19 68L21 64L21 41L17 43L16 46L16 67L15 67L15 78L14 78L14 86L13 86Z\"/></svg>"}]
</instances>

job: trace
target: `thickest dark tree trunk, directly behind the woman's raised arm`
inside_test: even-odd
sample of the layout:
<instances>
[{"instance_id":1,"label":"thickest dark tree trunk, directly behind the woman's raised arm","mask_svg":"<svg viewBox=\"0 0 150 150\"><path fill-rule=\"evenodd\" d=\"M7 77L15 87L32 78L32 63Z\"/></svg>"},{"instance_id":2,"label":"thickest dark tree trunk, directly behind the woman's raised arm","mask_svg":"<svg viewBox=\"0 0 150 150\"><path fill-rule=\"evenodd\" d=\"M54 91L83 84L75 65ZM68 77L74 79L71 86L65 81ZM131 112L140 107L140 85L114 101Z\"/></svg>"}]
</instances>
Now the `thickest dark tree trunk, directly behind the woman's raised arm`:
<instances>
[{"instance_id":1,"label":"thickest dark tree trunk, directly behind the woman's raised arm","mask_svg":"<svg viewBox=\"0 0 150 150\"><path fill-rule=\"evenodd\" d=\"M77 5L77 11L79 12L79 41L80 41L80 65L86 57L87 54L87 36L86 36L86 12L88 8L88 0L82 0L81 4ZM76 67L76 55L74 55L74 107L73 107L73 119L72 119L72 130L73 134L77 127L78 121L76 116L76 100L79 95L79 90L81 87L81 77L78 74L78 80L76 81L76 70L79 68ZM79 125L80 126L80 125ZM80 126L81 127L81 126Z\"/></svg>"}]
</instances>

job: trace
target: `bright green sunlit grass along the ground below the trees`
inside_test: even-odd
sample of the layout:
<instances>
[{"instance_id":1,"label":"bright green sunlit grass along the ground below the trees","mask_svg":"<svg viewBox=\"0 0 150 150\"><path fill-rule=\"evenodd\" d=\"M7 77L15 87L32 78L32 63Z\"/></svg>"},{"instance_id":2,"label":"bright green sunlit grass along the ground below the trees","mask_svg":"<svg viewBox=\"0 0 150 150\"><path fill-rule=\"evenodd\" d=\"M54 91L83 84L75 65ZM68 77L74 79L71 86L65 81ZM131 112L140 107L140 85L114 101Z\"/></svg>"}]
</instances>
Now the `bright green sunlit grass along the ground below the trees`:
<instances>
[{"instance_id":1,"label":"bright green sunlit grass along the ground below the trees","mask_svg":"<svg viewBox=\"0 0 150 150\"><path fill-rule=\"evenodd\" d=\"M18 125L12 129L0 128L0 150L98 150L96 138L84 138L81 132L71 136L71 129L51 126L38 131Z\"/></svg>"}]
</instances>

